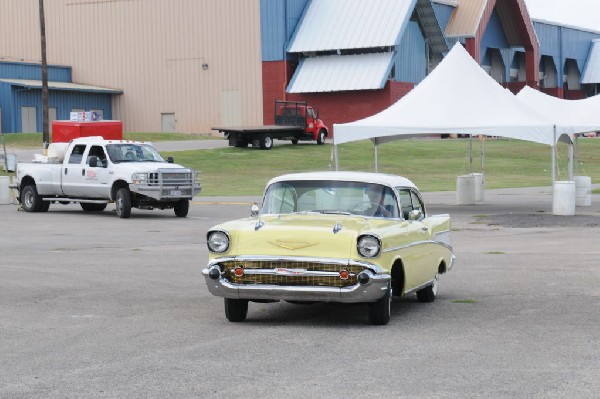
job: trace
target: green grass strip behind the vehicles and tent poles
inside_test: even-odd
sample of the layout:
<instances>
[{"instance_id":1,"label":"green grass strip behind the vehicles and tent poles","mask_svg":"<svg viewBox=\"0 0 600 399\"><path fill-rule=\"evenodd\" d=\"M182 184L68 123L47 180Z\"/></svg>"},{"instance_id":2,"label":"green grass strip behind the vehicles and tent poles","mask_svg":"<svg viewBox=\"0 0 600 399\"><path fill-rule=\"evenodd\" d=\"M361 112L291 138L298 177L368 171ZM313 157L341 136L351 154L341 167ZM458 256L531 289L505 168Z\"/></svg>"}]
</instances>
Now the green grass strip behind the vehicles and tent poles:
<instances>
[{"instance_id":1,"label":"green grass strip behind the vehicles and tent poles","mask_svg":"<svg viewBox=\"0 0 600 399\"><path fill-rule=\"evenodd\" d=\"M18 137L23 136L23 137ZM197 139L186 134L128 133L128 139L159 141ZM201 136L202 138L210 138ZM8 134L7 145L39 147L41 134ZM222 139L221 139L222 140ZM406 176L422 191L454 191L456 177L469 172L466 139L398 140L379 146L379 171ZM175 162L200 171L203 196L261 195L267 181L290 172L333 170L331 145L277 145L269 151L219 148L164 152ZM1 149L0 149L1 150ZM370 141L338 146L340 170L374 171ZM559 144L558 180L567 179L567 145ZM600 139L579 140L579 173L600 182ZM480 142L473 141L472 172L480 172ZM486 188L549 186L551 152L548 146L520 140L485 142ZM0 167L0 174L3 168ZM595 190L598 193L598 190Z\"/></svg>"}]
</instances>

